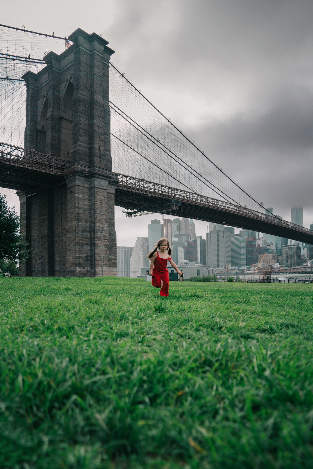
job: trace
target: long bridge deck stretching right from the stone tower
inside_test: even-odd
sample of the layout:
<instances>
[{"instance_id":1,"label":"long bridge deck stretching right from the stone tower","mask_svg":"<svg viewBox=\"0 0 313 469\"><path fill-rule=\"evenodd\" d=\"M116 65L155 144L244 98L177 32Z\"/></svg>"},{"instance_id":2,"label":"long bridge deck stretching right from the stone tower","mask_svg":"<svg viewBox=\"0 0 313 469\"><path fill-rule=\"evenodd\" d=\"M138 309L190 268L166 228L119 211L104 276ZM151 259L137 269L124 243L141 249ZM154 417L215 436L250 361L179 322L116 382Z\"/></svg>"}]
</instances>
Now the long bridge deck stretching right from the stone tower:
<instances>
[{"instance_id":1,"label":"long bridge deck stretching right from the stone tower","mask_svg":"<svg viewBox=\"0 0 313 469\"><path fill-rule=\"evenodd\" d=\"M313 231L295 223L193 192L162 186L123 174L117 174L117 176L119 185L115 191L115 205L126 209L141 208L146 212L156 212L153 209L157 209L161 201L164 205L164 202L170 203L175 200L181 203L181 208L169 209L166 212L163 210L158 213L212 221L221 225L260 231L313 244Z\"/></svg>"}]
</instances>

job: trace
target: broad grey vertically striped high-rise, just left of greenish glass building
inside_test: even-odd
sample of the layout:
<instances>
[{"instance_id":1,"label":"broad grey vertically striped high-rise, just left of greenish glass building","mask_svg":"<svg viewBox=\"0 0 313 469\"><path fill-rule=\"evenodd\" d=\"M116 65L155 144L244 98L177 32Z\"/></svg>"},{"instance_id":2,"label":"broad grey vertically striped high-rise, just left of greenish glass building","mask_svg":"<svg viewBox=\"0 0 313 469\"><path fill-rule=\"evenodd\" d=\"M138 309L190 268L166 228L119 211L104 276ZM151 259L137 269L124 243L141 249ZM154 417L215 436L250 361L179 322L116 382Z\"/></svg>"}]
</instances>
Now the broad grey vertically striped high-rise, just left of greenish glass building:
<instances>
[{"instance_id":1,"label":"broad grey vertically striped high-rise, just left of greenish glass building","mask_svg":"<svg viewBox=\"0 0 313 469\"><path fill-rule=\"evenodd\" d=\"M231 265L230 233L224 229L206 233L206 265Z\"/></svg>"}]
</instances>

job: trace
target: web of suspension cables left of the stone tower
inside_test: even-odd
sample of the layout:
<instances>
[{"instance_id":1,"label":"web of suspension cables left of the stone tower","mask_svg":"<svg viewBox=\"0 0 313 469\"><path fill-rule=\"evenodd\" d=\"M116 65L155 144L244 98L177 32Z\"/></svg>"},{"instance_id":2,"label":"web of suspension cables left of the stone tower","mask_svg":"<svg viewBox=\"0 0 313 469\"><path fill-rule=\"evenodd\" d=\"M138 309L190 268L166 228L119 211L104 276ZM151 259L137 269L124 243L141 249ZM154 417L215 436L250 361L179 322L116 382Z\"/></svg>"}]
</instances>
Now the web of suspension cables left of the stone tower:
<instances>
[{"instance_id":1,"label":"web of suspension cables left of the stone tower","mask_svg":"<svg viewBox=\"0 0 313 469\"><path fill-rule=\"evenodd\" d=\"M64 40L0 25L0 141L23 147L26 87L22 76L46 66L51 50L61 53Z\"/></svg>"}]
</instances>

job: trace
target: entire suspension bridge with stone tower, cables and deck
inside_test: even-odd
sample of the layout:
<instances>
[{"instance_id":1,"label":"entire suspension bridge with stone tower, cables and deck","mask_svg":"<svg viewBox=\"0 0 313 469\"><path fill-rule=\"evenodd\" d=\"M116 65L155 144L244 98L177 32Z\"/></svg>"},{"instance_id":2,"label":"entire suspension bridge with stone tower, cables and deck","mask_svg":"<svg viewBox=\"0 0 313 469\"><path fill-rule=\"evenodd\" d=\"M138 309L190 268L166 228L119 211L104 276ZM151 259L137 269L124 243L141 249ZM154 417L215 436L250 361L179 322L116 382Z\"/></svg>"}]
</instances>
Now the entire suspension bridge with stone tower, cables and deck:
<instances>
[{"instance_id":1,"label":"entire suspension bridge with stone tower, cables and deck","mask_svg":"<svg viewBox=\"0 0 313 469\"><path fill-rule=\"evenodd\" d=\"M115 205L313 244L313 231L266 214L161 113L102 37L0 25L0 39L0 187L20 198L31 248L21 275L101 275L103 226L103 271L115 275ZM54 43L65 50L45 50Z\"/></svg>"}]
</instances>

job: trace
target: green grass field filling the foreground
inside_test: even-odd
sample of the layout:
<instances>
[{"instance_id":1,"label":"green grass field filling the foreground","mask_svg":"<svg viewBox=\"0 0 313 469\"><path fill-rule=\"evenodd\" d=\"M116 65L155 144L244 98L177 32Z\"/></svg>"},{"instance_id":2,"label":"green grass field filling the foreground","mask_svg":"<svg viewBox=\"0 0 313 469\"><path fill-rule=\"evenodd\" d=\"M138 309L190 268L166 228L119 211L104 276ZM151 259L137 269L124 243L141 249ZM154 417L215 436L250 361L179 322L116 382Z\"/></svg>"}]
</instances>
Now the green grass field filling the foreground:
<instances>
[{"instance_id":1,"label":"green grass field filling the foreground","mask_svg":"<svg viewBox=\"0 0 313 469\"><path fill-rule=\"evenodd\" d=\"M313 285L0 279L0 467L312 468Z\"/></svg>"}]
</instances>

